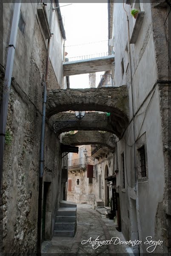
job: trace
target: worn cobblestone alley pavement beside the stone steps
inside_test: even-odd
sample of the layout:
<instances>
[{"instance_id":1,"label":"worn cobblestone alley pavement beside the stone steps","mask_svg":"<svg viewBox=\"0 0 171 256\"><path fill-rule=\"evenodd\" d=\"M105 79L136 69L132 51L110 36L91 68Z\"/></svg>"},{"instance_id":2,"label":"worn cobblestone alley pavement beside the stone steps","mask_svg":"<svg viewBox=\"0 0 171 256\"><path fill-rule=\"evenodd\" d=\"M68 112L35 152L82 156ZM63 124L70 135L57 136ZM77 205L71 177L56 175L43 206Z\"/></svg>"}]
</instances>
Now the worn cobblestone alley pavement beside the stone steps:
<instances>
[{"instance_id":1,"label":"worn cobblestone alley pavement beside the stone steps","mask_svg":"<svg viewBox=\"0 0 171 256\"><path fill-rule=\"evenodd\" d=\"M103 253L125 253L128 255L126 248L128 245L102 245L93 249L92 245L87 242L81 244L81 241L91 238L94 241L99 236L100 241L110 240L112 237L118 237L125 241L121 232L116 230L117 224L113 220L105 218L97 210L92 209L91 205L77 204L77 231L74 237L53 237L51 241L44 241L42 244L42 253L79 253L79 255L102 255Z\"/></svg>"}]
</instances>

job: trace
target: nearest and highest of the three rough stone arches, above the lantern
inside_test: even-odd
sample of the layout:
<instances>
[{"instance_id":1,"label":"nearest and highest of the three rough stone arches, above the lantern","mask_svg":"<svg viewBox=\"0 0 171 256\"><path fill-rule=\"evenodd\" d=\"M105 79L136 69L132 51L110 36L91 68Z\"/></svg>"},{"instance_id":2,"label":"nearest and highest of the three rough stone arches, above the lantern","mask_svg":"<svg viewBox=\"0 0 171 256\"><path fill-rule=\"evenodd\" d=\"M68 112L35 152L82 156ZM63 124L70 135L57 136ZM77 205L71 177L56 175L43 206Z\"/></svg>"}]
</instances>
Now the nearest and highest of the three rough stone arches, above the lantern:
<instances>
[{"instance_id":1,"label":"nearest and highest of the three rough stone arches, above the lantern","mask_svg":"<svg viewBox=\"0 0 171 256\"><path fill-rule=\"evenodd\" d=\"M117 119L128 121L128 88L90 88L49 90L46 116L64 111L103 111L110 112Z\"/></svg>"}]
</instances>

